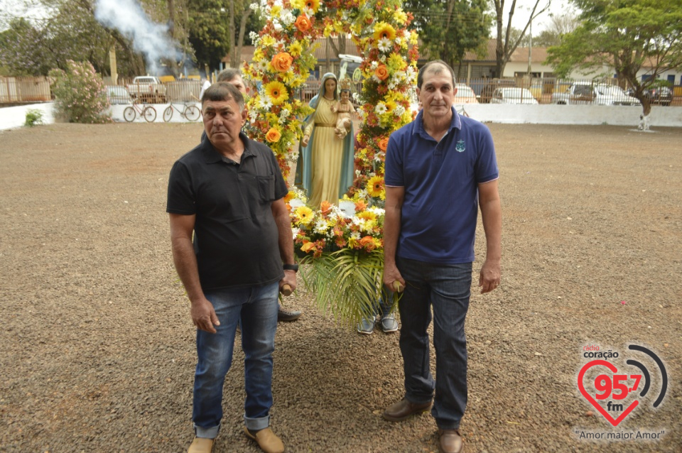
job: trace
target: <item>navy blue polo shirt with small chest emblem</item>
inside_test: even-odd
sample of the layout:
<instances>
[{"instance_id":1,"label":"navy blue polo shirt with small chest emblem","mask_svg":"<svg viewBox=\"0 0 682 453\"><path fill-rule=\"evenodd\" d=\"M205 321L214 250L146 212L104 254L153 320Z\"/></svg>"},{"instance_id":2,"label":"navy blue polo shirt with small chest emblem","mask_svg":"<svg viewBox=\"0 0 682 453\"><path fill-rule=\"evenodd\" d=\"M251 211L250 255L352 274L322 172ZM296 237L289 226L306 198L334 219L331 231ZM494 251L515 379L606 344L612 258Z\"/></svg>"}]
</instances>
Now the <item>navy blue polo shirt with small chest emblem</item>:
<instances>
[{"instance_id":1,"label":"navy blue polo shirt with small chest emblem","mask_svg":"<svg viewBox=\"0 0 682 453\"><path fill-rule=\"evenodd\" d=\"M423 112L391 134L387 186L404 187L396 256L426 263L474 261L478 184L499 176L489 129L453 109L440 142L426 133Z\"/></svg>"}]
</instances>

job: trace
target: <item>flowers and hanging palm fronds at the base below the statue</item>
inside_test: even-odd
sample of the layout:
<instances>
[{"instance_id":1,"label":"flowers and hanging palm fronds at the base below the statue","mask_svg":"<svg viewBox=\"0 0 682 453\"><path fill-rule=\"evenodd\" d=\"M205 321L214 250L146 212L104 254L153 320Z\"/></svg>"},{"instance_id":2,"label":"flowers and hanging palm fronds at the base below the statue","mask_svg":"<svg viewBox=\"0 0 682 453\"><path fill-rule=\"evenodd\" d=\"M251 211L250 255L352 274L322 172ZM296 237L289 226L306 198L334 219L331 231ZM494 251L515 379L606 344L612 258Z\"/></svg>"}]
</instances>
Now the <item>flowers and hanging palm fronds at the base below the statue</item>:
<instances>
[{"instance_id":1,"label":"flowers and hanging palm fronds at the base below the statue","mask_svg":"<svg viewBox=\"0 0 682 453\"><path fill-rule=\"evenodd\" d=\"M306 204L302 190L285 198L305 286L320 309L352 325L372 315L381 295L383 187L374 193L358 190L338 204L323 202L320 209Z\"/></svg>"}]
</instances>

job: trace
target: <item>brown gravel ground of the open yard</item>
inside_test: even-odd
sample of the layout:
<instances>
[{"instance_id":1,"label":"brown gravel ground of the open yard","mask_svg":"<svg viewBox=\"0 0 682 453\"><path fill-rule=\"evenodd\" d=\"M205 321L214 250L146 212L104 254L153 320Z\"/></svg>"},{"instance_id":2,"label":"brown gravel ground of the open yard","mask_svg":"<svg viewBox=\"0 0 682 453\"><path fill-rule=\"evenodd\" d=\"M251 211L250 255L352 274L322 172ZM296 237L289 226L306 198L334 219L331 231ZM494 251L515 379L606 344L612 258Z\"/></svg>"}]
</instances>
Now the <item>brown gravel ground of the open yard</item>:
<instances>
[{"instance_id":1,"label":"brown gravel ground of the open yard","mask_svg":"<svg viewBox=\"0 0 682 453\"><path fill-rule=\"evenodd\" d=\"M473 293L467 317L467 452L681 452L682 129L489 127L503 278L494 293ZM188 447L194 328L165 205L171 164L200 133L200 124L0 133L0 451ZM360 336L303 291L286 305L304 310L280 324L274 356L273 426L288 452L437 450L430 415L381 418L403 394L399 334ZM614 428L576 377L583 346L629 357L631 342L661 356L669 387L654 410L659 373L637 356L651 391ZM215 452L259 451L242 433L242 359L227 376ZM576 434L609 428L665 435Z\"/></svg>"}]
</instances>

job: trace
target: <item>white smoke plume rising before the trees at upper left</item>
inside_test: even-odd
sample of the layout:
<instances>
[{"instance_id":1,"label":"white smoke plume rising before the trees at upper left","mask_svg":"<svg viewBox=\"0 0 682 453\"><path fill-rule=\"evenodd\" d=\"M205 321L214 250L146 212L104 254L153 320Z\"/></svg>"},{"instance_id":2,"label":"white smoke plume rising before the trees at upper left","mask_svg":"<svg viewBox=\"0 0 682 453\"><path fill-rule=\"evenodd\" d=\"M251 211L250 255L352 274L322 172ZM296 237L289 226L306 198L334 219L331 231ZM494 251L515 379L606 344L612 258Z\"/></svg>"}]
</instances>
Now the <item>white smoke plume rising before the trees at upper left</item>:
<instances>
[{"instance_id":1,"label":"white smoke plume rising before the trees at upper left","mask_svg":"<svg viewBox=\"0 0 682 453\"><path fill-rule=\"evenodd\" d=\"M94 18L131 38L133 48L144 54L147 70L154 75L160 58L181 58L177 43L168 36L168 26L151 21L135 0L97 0Z\"/></svg>"}]
</instances>

